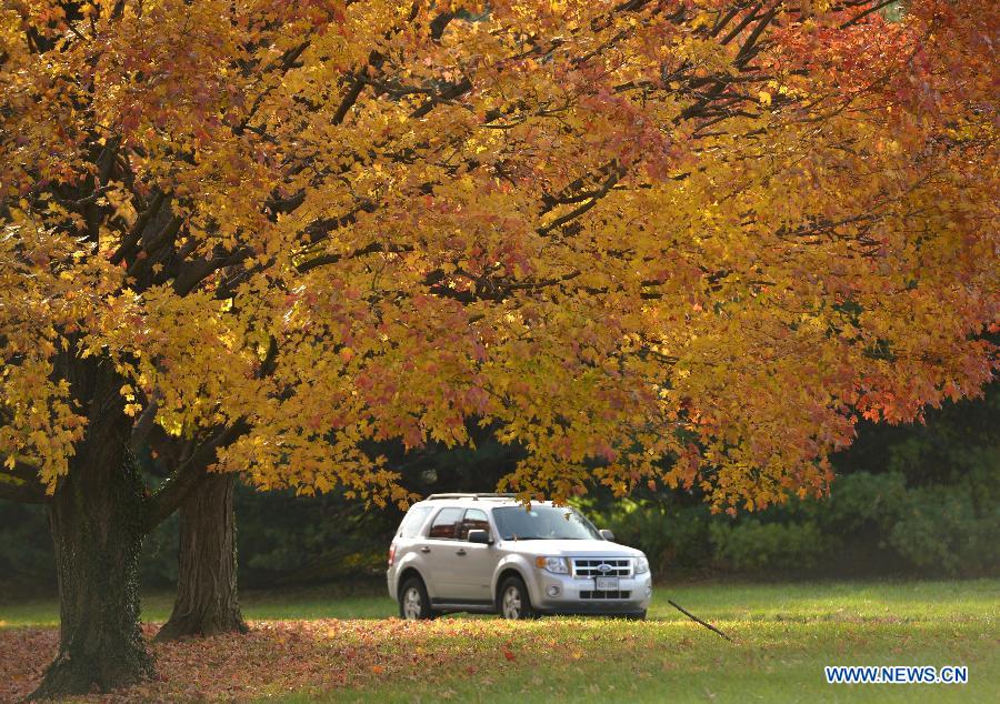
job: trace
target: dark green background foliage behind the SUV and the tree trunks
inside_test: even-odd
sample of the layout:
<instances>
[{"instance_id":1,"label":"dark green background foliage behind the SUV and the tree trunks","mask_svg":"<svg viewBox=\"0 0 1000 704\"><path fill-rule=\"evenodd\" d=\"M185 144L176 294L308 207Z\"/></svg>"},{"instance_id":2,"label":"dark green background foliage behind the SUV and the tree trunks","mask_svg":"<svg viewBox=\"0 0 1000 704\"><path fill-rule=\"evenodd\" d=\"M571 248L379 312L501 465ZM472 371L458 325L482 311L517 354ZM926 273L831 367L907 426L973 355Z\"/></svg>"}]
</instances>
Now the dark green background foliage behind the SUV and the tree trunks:
<instances>
[{"instance_id":1,"label":"dark green background foliage behind the SUV and the tree trunks","mask_svg":"<svg viewBox=\"0 0 1000 704\"><path fill-rule=\"evenodd\" d=\"M974 401L931 409L926 423L862 424L850 450L834 455L831 496L736 519L712 515L696 492L638 490L638 506L594 489L584 505L619 537L641 545L662 575L681 573L962 574L989 571L989 544L1000 543L991 517L1000 512L1000 385ZM492 491L520 456L489 432L476 449L429 445L404 453L384 445L406 485L436 491ZM316 497L260 493L238 485L241 586L281 587L379 579L386 546L402 517L394 507L372 510L339 493ZM54 590L52 546L40 506L0 503L0 575L14 596ZM714 529L712 526L716 526ZM928 546L918 532L957 533ZM178 524L173 519L147 539L142 582L166 590L177 579ZM832 540L836 537L837 540ZM943 551L938 553L936 551ZM974 553L963 562L964 553ZM923 562L921 562L921 555ZM928 564L927 560L933 560Z\"/></svg>"}]
</instances>

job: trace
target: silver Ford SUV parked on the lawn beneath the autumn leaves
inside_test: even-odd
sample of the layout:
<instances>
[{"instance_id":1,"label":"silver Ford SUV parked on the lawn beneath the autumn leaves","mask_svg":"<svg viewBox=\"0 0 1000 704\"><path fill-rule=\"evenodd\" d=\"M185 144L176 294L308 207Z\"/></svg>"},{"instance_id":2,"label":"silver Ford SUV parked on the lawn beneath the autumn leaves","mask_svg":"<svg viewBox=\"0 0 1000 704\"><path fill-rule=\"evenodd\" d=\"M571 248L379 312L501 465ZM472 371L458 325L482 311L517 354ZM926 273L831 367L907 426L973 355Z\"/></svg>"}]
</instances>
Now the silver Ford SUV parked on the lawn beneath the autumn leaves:
<instances>
[{"instance_id":1,"label":"silver Ford SUV parked on the lawn beneath the autumn leaves","mask_svg":"<svg viewBox=\"0 0 1000 704\"><path fill-rule=\"evenodd\" d=\"M644 618L642 552L574 509L503 494L433 494L413 504L389 547L389 594L403 618L458 611Z\"/></svg>"}]
</instances>

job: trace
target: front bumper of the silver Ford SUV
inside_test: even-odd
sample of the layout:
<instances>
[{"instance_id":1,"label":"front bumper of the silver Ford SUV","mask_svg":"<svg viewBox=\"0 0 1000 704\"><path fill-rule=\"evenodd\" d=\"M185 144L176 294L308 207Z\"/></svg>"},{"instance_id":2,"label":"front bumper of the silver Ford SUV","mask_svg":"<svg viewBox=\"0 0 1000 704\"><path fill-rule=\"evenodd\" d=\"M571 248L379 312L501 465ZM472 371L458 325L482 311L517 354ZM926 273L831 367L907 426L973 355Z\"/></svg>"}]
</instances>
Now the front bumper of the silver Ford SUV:
<instances>
[{"instance_id":1,"label":"front bumper of the silver Ford SUV","mask_svg":"<svg viewBox=\"0 0 1000 704\"><path fill-rule=\"evenodd\" d=\"M538 571L529 585L531 603L553 614L636 614L652 599L652 579L647 572L620 577L617 592L598 592L592 579Z\"/></svg>"}]
</instances>

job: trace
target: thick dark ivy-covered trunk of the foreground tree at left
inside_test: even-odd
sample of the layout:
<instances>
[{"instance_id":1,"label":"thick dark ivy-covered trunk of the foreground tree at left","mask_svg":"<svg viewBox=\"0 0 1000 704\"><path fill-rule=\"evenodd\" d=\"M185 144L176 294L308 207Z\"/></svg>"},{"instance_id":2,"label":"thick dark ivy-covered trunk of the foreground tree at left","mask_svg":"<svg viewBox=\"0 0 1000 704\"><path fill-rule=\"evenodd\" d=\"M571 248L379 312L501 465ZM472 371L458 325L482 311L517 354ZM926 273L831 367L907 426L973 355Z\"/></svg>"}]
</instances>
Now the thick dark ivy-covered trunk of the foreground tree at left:
<instances>
[{"instance_id":1,"label":"thick dark ivy-covered trunk of the foreground tree at left","mask_svg":"<svg viewBox=\"0 0 1000 704\"><path fill-rule=\"evenodd\" d=\"M33 697L108 691L152 674L139 627L146 499L128 445L128 419L109 415L109 422L88 428L50 502L59 652Z\"/></svg>"}]
</instances>

